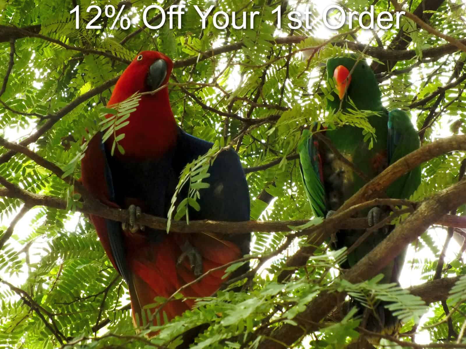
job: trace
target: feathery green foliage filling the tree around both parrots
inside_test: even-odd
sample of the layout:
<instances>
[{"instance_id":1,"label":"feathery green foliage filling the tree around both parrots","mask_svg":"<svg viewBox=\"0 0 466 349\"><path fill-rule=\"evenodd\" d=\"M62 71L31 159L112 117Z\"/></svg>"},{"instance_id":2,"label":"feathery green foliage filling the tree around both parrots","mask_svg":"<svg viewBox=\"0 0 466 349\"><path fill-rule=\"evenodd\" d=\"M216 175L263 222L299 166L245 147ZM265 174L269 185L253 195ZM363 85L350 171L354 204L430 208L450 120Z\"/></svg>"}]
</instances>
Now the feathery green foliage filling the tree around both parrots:
<instances>
[{"instance_id":1,"label":"feathery green foliage filling the tree around both parrots","mask_svg":"<svg viewBox=\"0 0 466 349\"><path fill-rule=\"evenodd\" d=\"M293 157L303 128L324 121L328 127L353 124L361 128L368 145L377 141L366 120L369 113L333 114L325 110L334 86L326 81L324 62L354 51L355 45L359 45L363 59L380 62L372 67L376 68L384 106L410 110L424 144L466 133L464 52L452 49L444 39L419 29L404 16L404 36L400 40L400 29L395 27L377 32L350 31L346 23L333 33L341 35L326 42L323 37L333 34L320 30L320 4L308 2L313 13L312 29L288 27L288 13L302 11L301 1L261 0L220 0L202 29L194 5L207 9L212 1L187 0L181 28L169 29L165 23L159 30L141 31L144 8L155 3L153 0L132 1L131 8L127 1L117 0L0 0L0 65L9 67L11 59L14 62L11 72L5 68L0 72L0 81L5 82L5 88L0 87L0 134L9 141L24 141L41 157L62 168L63 178L71 175L79 179L80 159L90 137L99 129L105 129L104 137L109 137L123 128L141 98L137 94L120 106L105 107L111 84L100 87L121 74L140 50L156 49L175 62L169 88L178 124L196 137L215 142L208 154L185 168L178 188L189 182L190 196L180 200L178 207L174 198L170 218L176 213L175 219L184 215L189 219L189 209L199 206L195 199L199 188L206 185L202 179L208 163L219 151L233 146L248 169L252 219L309 219L312 211L302 188L298 160ZM449 0L433 8L434 2L439 1L405 1L404 9L413 12L429 5L432 10L425 11L423 18L432 27L457 39L465 38L464 4ZM168 8L172 1L157 3ZM362 0L341 3L359 12L368 7L368 2ZM389 3L375 1L375 12L393 10ZM118 25L111 29L114 18L103 13L94 22L101 29L86 29L95 16L95 12L86 12L91 4L102 9L105 5L117 9L125 5L123 16L132 20L132 26L128 30ZM76 5L80 5L78 29L70 14ZM278 5L282 5L281 29L272 13ZM231 25L218 29L213 25L213 15L219 11L259 11L260 15L254 17L252 29ZM157 13L149 11L148 18ZM217 18L221 20L222 16ZM353 24L356 26L356 21ZM24 28L29 34L7 27ZM14 44L10 38L16 38ZM12 47L14 55L10 58ZM400 51L412 54L398 60ZM105 114L110 118L103 120ZM37 137L29 139L31 135ZM119 140L115 140L114 150L123 152ZM326 244L318 246L305 268L298 269L285 282L278 282L288 256L306 241L285 232L256 232L251 253L257 258L251 264L261 268L249 289L233 292L238 284L230 285L215 297L199 300L197 307L182 317L137 333L127 305L126 284L112 268L88 219L73 212L81 204L76 201L73 183L63 181L50 168L39 166L24 154L10 158L8 151L0 147L2 178L32 194L72 198L69 201L73 204L69 210L34 208L11 235L7 228L22 202L0 196L0 347L142 348L170 343L169 347L174 348L186 329L208 323L210 327L200 334L193 348L260 348L267 337L265 329L278 329L284 324L301 326L299 315L327 292L349 293L369 308L379 300L393 301L391 306L399 310L406 331L425 313L425 305L417 297L381 284L377 277L354 284L345 282L336 263L343 258L342 251L329 252ZM411 199L421 201L456 183L462 158L464 153L452 152L423 163L422 183ZM267 166L273 162L274 166ZM459 207L458 215L464 211L464 206ZM446 229L424 233L413 242L414 252L404 268L417 273L419 279L432 279L445 236ZM276 252L290 241L293 243L283 248L283 253ZM446 261L450 264L445 267L449 268L442 276L465 273L461 255L448 255ZM466 320L464 289L463 277L450 291L447 302L456 334ZM445 343L449 336L445 308L435 302L429 310L424 318L428 339ZM297 340L295 346L342 348L364 336L357 329L360 321L354 310L327 318L308 330L309 336ZM144 333L154 329L160 330L159 335L150 341L145 339ZM403 340L409 342L411 338Z\"/></svg>"}]
</instances>

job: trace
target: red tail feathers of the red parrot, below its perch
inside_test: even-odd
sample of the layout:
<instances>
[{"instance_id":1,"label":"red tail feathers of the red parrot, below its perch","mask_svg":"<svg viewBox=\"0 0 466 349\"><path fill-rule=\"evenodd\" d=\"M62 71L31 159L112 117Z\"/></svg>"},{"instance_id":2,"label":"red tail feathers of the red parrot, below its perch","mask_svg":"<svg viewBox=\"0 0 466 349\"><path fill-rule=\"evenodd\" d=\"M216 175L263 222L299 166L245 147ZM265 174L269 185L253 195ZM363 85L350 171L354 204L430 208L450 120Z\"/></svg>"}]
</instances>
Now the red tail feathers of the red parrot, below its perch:
<instances>
[{"instance_id":1,"label":"red tail feathers of the red parrot, below its perch","mask_svg":"<svg viewBox=\"0 0 466 349\"><path fill-rule=\"evenodd\" d=\"M183 285L197 278L187 260L178 267L176 265L177 256L181 255L180 242L186 238L186 235L171 233L162 242L157 243L141 241L135 244L135 239L127 239L128 261L130 261L131 272L135 275L134 284L141 307L155 303L154 298L157 296L170 297ZM192 239L192 245L202 255L203 273L242 256L240 249L232 242L219 240L209 235L196 235L195 239ZM225 268L215 270L199 282L183 289L181 293L185 297L210 296L225 282L225 279L222 279L223 275L225 275ZM132 298L135 296L131 295ZM193 305L193 299L173 300L161 309L160 318L163 319L162 314L165 312L168 320L171 320ZM151 313L154 313L156 309L155 307L151 309ZM140 309L133 309L133 319L135 311L140 313ZM157 324L156 319L154 319L154 324Z\"/></svg>"}]
</instances>

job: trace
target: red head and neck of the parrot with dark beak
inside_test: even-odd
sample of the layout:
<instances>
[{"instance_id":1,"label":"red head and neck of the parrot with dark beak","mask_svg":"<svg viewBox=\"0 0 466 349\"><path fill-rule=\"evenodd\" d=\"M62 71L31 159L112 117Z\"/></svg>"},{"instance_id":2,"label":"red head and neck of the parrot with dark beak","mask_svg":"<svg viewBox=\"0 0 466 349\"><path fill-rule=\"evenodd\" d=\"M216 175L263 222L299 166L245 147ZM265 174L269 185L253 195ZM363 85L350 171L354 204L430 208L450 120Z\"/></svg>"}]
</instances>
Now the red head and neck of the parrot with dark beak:
<instances>
[{"instance_id":1,"label":"red head and neck of the parrot with dark beak","mask_svg":"<svg viewBox=\"0 0 466 349\"><path fill-rule=\"evenodd\" d=\"M108 106L122 102L136 92L150 92L163 86L170 79L173 62L156 51L143 51L137 54L118 79ZM110 117L109 114L107 117ZM136 110L130 114L129 124L116 131L125 134L118 143L124 154L115 152L118 157L136 159L158 158L163 156L176 142L177 125L168 99L168 87L154 94L141 96ZM113 144L112 135L107 147Z\"/></svg>"}]
</instances>

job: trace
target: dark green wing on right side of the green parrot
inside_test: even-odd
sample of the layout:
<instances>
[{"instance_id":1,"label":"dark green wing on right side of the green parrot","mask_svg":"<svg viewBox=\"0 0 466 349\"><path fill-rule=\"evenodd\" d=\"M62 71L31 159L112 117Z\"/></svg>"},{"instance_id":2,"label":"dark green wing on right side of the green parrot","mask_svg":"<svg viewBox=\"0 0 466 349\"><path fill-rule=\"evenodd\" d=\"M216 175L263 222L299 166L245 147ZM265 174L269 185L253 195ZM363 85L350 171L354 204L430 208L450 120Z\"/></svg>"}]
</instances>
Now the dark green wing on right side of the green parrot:
<instances>
[{"instance_id":1,"label":"dark green wing on right side of the green parrot","mask_svg":"<svg viewBox=\"0 0 466 349\"><path fill-rule=\"evenodd\" d=\"M400 109L392 110L388 114L387 151L389 165L419 147L418 132L412 125L409 115ZM421 168L418 166L391 183L387 189L387 195L394 199L409 199L420 183Z\"/></svg>"}]
</instances>

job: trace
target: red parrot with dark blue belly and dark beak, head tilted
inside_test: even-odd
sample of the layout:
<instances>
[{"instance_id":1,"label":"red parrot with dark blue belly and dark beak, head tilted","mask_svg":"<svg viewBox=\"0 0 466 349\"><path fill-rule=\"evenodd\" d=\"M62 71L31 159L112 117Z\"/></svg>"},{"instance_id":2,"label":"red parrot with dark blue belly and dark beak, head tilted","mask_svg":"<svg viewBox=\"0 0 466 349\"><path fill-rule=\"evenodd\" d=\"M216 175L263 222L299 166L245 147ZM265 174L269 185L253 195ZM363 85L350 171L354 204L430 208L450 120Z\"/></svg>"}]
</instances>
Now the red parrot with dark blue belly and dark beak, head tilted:
<instances>
[{"instance_id":1,"label":"red parrot with dark blue belly and dark beak, head tilted","mask_svg":"<svg viewBox=\"0 0 466 349\"><path fill-rule=\"evenodd\" d=\"M141 52L117 81L108 106L136 92L153 91L165 85L172 68L171 59L164 54ZM142 210L166 218L183 168L206 154L212 143L178 127L166 86L155 94L141 96L128 120L129 124L116 133L125 134L119 141L124 154L115 151L110 155L113 136L103 143L102 134L98 133L89 141L81 162L82 184L108 206L129 208L132 217L137 218ZM208 173L210 176L204 181L210 187L200 189L200 210L190 210L190 220L249 220L249 190L238 155L233 150L221 152ZM185 186L178 202L187 195ZM131 221L129 226L122 225L96 215L90 215L90 220L113 266L128 283L135 324L141 324L137 317L141 319L141 310L153 304L156 296L168 298L201 273L249 253L249 234L222 238L211 233L167 234L144 229ZM247 269L245 264L234 274L240 275ZM224 274L224 269L215 271L182 293L186 297L210 296L225 282ZM191 309L194 302L193 299L168 302L160 309L160 318L165 312L171 320ZM151 313L155 310L150 309Z\"/></svg>"}]
</instances>

